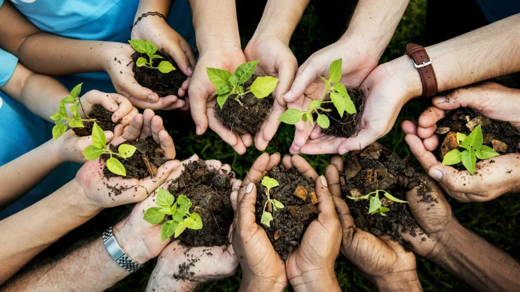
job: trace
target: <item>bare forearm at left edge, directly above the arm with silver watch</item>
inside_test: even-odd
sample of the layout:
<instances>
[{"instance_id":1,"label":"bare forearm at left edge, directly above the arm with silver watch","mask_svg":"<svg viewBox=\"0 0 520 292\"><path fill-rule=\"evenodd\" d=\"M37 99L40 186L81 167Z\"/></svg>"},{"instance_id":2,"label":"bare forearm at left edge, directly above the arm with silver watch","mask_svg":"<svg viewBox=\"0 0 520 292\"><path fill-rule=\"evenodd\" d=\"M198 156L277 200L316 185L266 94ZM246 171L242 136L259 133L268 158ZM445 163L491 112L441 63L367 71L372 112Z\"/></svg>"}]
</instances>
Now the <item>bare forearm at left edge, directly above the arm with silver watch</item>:
<instances>
[{"instance_id":1,"label":"bare forearm at left edge, directly above the arm with silver watch","mask_svg":"<svg viewBox=\"0 0 520 292\"><path fill-rule=\"evenodd\" d=\"M36 204L0 221L0 283L35 255L100 211L72 180Z\"/></svg>"}]
</instances>

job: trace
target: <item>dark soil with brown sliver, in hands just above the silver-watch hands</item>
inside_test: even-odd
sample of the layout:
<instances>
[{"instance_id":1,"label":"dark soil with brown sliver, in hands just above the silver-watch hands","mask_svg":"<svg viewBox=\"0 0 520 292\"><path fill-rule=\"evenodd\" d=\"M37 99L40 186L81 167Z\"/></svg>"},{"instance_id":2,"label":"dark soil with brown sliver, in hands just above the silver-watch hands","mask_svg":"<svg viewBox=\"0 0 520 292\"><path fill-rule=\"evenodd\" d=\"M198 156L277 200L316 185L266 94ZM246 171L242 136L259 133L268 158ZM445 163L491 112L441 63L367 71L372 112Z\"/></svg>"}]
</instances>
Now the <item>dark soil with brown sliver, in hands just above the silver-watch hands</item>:
<instances>
[{"instance_id":1,"label":"dark soil with brown sliver, in hands just above the silver-watch hands","mask_svg":"<svg viewBox=\"0 0 520 292\"><path fill-rule=\"evenodd\" d=\"M166 162L166 160L163 159L164 150L161 149L161 145L150 137L137 141L126 141L123 144L133 145L136 148L134 155L126 159L116 155L113 156L125 167L127 178L142 179L148 176L155 177L157 175L157 168ZM109 144L109 147L110 151L119 153L119 145L114 146ZM109 154L101 155L101 159L105 161L108 158L110 158ZM105 174L107 178L119 176L108 170L107 166L103 169L103 174Z\"/></svg>"}]
</instances>

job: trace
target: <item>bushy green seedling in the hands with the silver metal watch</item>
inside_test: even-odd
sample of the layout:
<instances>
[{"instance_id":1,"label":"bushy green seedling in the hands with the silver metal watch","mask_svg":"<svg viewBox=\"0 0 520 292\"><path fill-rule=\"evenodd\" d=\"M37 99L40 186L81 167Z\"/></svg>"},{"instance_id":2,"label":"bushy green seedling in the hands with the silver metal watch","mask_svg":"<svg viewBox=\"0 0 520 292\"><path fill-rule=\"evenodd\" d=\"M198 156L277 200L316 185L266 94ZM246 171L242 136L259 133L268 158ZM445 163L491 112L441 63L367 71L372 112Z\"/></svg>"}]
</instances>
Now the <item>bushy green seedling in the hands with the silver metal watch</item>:
<instances>
[{"instance_id":1,"label":"bushy green seedling in the hands with the silver metal watch","mask_svg":"<svg viewBox=\"0 0 520 292\"><path fill-rule=\"evenodd\" d=\"M151 207L146 210L145 219L151 224L161 224L166 215L171 216L161 225L161 241L175 234L179 237L186 228L199 230L202 228L202 219L197 213L189 213L191 201L185 195L179 195L177 202L175 197L163 188L159 188L155 204L158 207Z\"/></svg>"}]
</instances>

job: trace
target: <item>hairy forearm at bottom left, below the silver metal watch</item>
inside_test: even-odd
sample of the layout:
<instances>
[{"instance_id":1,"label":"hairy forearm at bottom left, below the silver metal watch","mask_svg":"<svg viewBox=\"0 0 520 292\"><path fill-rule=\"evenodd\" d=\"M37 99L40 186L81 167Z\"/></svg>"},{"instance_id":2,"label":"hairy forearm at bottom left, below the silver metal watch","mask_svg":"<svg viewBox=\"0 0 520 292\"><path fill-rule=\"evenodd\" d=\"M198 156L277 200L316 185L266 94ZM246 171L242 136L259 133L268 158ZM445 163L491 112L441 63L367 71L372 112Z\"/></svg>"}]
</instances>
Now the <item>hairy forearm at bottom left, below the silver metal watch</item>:
<instances>
[{"instance_id":1,"label":"hairy forearm at bottom left, below the silver metal watch","mask_svg":"<svg viewBox=\"0 0 520 292\"><path fill-rule=\"evenodd\" d=\"M15 278L3 290L103 291L129 274L97 238L56 263Z\"/></svg>"}]
</instances>

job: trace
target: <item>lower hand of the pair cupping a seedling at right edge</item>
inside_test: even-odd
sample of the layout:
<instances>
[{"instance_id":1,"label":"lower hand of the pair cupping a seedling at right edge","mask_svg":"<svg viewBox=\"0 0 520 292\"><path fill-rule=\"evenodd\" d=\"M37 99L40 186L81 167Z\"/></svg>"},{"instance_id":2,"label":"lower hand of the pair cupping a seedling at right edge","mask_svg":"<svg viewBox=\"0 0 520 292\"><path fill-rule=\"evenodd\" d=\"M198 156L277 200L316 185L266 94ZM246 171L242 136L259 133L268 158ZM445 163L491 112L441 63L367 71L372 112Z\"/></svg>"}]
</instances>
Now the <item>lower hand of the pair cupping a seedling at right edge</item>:
<instances>
[{"instance_id":1,"label":"lower hand of the pair cupping a seedling at right edge","mask_svg":"<svg viewBox=\"0 0 520 292\"><path fill-rule=\"evenodd\" d=\"M435 155L426 150L424 141L417 136L417 126L405 121L402 129L405 141L428 174L437 180L448 195L460 202L485 202L508 192L520 191L520 154L509 153L479 161L475 175L467 170L457 170L441 165Z\"/></svg>"}]
</instances>

